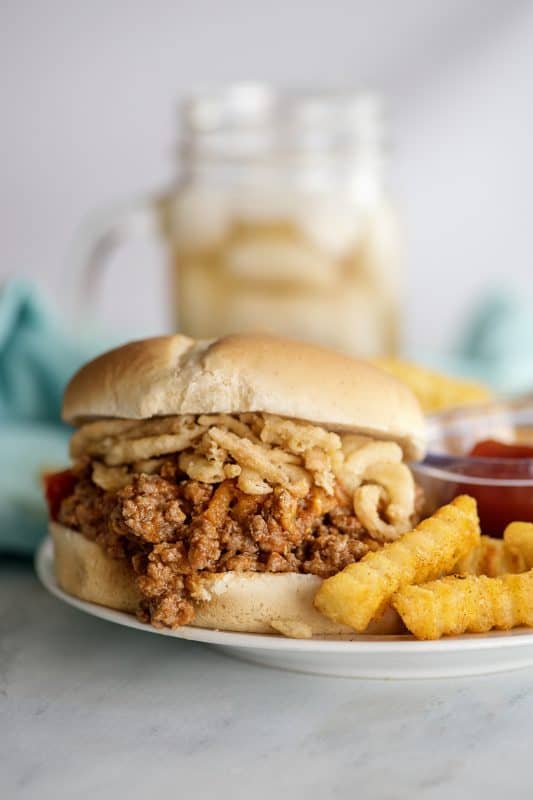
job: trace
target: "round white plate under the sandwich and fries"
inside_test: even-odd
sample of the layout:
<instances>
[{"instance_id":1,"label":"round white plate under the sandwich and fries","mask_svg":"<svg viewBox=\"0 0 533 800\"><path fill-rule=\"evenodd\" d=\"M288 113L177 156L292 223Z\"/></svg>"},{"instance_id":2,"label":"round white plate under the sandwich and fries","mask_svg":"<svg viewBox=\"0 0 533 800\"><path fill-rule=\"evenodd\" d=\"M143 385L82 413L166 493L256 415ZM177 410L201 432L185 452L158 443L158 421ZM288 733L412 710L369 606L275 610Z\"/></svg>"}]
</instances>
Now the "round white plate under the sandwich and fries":
<instances>
[{"instance_id":1,"label":"round white plate under the sandwich and fries","mask_svg":"<svg viewBox=\"0 0 533 800\"><path fill-rule=\"evenodd\" d=\"M448 678L533 666L533 630L525 628L438 642L419 642L411 636L287 639L190 625L175 631L158 629L131 614L86 603L63 592L56 582L50 539L41 545L35 568L48 591L86 614L146 633L216 645L227 655L268 667L348 678Z\"/></svg>"}]
</instances>

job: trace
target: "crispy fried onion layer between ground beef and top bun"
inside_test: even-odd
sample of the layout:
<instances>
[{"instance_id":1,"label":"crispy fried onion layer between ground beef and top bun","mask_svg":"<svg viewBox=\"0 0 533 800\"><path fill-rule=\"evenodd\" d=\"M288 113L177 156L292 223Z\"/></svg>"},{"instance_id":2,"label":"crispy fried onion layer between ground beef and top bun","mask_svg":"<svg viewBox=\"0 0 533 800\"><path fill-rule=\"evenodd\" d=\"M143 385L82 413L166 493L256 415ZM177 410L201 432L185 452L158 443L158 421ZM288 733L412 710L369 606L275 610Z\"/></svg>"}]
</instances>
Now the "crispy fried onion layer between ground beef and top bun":
<instances>
[{"instance_id":1,"label":"crispy fried onion layer between ground beef and top bun","mask_svg":"<svg viewBox=\"0 0 533 800\"><path fill-rule=\"evenodd\" d=\"M282 486L303 497L311 486L353 496L354 511L369 534L392 541L410 528L415 486L394 442L337 434L269 414L209 414L151 420L99 420L72 437L73 458L89 456L93 481L122 488L132 472L157 472L162 457L178 454L192 480L234 478L246 494Z\"/></svg>"}]
</instances>

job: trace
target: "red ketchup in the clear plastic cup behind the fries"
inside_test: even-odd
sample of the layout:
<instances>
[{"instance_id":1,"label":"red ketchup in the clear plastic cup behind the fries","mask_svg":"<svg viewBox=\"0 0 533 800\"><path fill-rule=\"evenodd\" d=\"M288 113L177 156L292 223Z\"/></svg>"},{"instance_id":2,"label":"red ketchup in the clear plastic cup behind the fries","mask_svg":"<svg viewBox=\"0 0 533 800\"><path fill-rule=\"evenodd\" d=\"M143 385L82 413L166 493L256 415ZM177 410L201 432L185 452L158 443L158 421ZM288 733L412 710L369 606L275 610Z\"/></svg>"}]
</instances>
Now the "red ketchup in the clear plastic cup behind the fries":
<instances>
[{"instance_id":1,"label":"red ketchup in the clear plastic cup behind the fries","mask_svg":"<svg viewBox=\"0 0 533 800\"><path fill-rule=\"evenodd\" d=\"M501 537L510 522L533 522L533 447L485 439L477 442L468 455L494 459L494 463L480 461L468 470L469 475L485 478L486 486L475 483L460 486L461 494L477 500L482 533ZM531 486L490 485L491 478L509 481L530 478Z\"/></svg>"}]
</instances>

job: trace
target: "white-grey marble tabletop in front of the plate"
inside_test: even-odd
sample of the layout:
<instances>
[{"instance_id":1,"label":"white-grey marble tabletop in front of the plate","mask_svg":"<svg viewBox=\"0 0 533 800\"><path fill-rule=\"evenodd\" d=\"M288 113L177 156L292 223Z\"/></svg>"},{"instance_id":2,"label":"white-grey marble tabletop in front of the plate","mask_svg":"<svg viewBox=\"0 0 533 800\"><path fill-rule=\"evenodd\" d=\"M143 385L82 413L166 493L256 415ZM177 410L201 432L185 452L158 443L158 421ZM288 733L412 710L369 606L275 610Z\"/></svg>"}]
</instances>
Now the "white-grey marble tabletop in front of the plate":
<instances>
[{"instance_id":1,"label":"white-grey marble tabletop in front of the plate","mask_svg":"<svg viewBox=\"0 0 533 800\"><path fill-rule=\"evenodd\" d=\"M3 800L531 798L533 672L352 681L232 661L0 564Z\"/></svg>"}]
</instances>

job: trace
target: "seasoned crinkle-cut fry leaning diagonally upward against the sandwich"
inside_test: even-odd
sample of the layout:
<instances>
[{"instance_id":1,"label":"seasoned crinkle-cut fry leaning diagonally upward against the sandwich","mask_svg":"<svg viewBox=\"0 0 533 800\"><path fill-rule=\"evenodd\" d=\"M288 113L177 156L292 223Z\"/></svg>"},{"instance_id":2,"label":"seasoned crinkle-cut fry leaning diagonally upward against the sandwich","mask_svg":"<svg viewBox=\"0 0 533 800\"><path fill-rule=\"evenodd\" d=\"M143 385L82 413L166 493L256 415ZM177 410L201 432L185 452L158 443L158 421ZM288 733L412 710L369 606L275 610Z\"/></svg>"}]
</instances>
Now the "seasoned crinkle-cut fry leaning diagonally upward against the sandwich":
<instances>
[{"instance_id":1,"label":"seasoned crinkle-cut fry leaning diagonally upward against the sandwich","mask_svg":"<svg viewBox=\"0 0 533 800\"><path fill-rule=\"evenodd\" d=\"M327 578L315 606L333 621L362 633L398 589L450 572L479 543L479 535L475 500L456 497L401 539Z\"/></svg>"}]
</instances>

